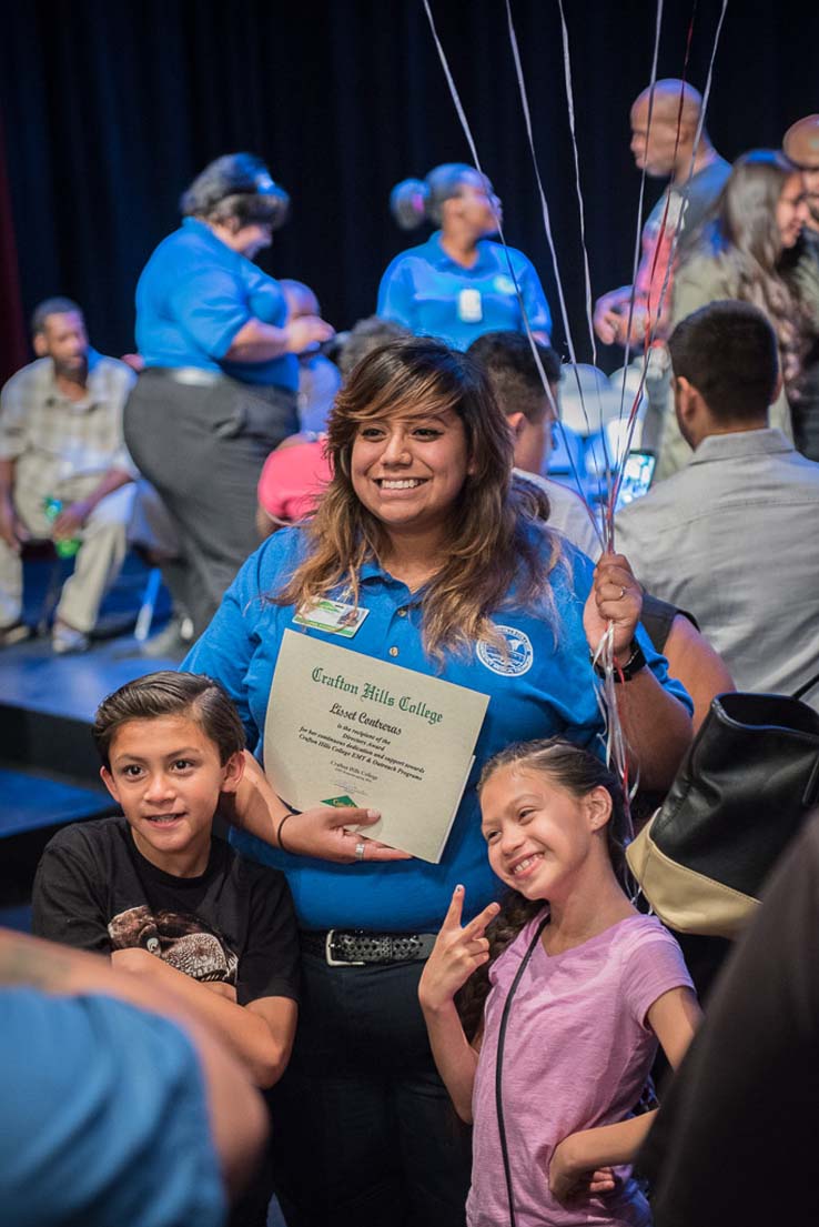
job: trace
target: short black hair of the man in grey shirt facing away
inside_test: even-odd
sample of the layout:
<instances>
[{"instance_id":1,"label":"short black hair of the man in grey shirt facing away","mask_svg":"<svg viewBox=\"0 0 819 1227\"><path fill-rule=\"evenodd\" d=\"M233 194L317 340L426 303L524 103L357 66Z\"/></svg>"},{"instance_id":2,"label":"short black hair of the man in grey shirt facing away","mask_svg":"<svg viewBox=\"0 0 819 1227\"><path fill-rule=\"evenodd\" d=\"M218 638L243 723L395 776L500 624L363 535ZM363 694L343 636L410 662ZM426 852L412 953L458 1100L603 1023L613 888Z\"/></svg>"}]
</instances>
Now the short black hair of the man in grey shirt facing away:
<instances>
[{"instance_id":1,"label":"short black hair of the man in grey shirt facing away","mask_svg":"<svg viewBox=\"0 0 819 1227\"><path fill-rule=\"evenodd\" d=\"M668 337L677 379L696 388L722 422L761 418L776 390L779 350L774 329L752 303L732 298L700 307Z\"/></svg>"}]
</instances>

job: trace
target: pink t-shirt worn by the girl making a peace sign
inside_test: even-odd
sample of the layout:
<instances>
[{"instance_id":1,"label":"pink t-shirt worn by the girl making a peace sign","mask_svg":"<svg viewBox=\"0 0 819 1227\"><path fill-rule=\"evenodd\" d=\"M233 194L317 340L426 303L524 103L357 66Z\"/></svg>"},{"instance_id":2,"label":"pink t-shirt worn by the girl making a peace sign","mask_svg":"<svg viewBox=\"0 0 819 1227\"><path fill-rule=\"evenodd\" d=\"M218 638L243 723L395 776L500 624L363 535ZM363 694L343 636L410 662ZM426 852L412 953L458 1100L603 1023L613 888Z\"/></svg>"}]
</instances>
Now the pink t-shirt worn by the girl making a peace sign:
<instances>
[{"instance_id":1,"label":"pink t-shirt worn by the girl making a peace sign","mask_svg":"<svg viewBox=\"0 0 819 1227\"><path fill-rule=\"evenodd\" d=\"M489 972L472 1096L470 1227L509 1223L495 1110L498 1031L509 988L543 914ZM515 993L504 1044L504 1123L517 1227L651 1222L629 1167L617 1169L612 1193L570 1210L549 1193L548 1171L554 1147L569 1134L631 1115L657 1049L646 1015L657 998L680 985L691 987L682 952L653 917L629 917L554 957L537 944Z\"/></svg>"}]
</instances>

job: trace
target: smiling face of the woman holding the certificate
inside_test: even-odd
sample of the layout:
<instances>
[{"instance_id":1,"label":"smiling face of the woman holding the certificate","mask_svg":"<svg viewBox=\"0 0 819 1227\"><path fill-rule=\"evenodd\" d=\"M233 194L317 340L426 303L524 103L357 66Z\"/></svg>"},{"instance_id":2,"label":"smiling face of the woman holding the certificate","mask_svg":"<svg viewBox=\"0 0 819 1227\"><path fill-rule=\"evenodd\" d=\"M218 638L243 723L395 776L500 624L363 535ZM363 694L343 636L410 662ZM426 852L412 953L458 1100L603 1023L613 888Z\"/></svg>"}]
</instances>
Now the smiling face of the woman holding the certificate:
<instances>
[{"instance_id":1,"label":"smiling face of the woman holding the certificate","mask_svg":"<svg viewBox=\"0 0 819 1227\"><path fill-rule=\"evenodd\" d=\"M353 440L356 494L387 533L445 528L471 471L454 409L368 418Z\"/></svg>"}]
</instances>

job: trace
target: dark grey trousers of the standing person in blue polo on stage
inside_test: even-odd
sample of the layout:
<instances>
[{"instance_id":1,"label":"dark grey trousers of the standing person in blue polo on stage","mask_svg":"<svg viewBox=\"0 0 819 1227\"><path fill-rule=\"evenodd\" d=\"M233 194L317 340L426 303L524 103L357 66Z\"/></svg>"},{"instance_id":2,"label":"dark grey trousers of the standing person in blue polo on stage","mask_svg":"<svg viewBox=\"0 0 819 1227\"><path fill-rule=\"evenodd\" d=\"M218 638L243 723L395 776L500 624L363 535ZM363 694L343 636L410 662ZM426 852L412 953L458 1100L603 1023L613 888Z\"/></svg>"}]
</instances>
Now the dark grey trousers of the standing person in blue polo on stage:
<instances>
[{"instance_id":1,"label":"dark grey trousers of the standing person in blue polo on stage","mask_svg":"<svg viewBox=\"0 0 819 1227\"><path fill-rule=\"evenodd\" d=\"M281 388L228 378L191 387L148 369L129 398L125 439L179 530L184 604L196 634L259 545L259 475L269 453L297 429L295 396Z\"/></svg>"}]
</instances>

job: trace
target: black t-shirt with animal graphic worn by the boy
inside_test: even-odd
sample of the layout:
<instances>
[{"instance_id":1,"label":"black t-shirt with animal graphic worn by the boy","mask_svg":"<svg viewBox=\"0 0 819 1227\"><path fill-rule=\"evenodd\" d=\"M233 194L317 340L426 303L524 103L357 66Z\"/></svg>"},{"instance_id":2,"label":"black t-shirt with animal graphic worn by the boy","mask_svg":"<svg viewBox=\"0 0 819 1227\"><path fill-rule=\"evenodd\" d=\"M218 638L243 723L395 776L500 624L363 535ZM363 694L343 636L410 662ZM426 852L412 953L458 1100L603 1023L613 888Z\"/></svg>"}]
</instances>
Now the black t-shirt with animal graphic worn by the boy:
<instances>
[{"instance_id":1,"label":"black t-shirt with animal graphic worn by the boy","mask_svg":"<svg viewBox=\"0 0 819 1227\"><path fill-rule=\"evenodd\" d=\"M37 869L33 930L102 955L147 950L192 979L234 985L239 1005L298 1000L287 879L216 837L204 874L174 877L142 856L124 817L65 827Z\"/></svg>"}]
</instances>

